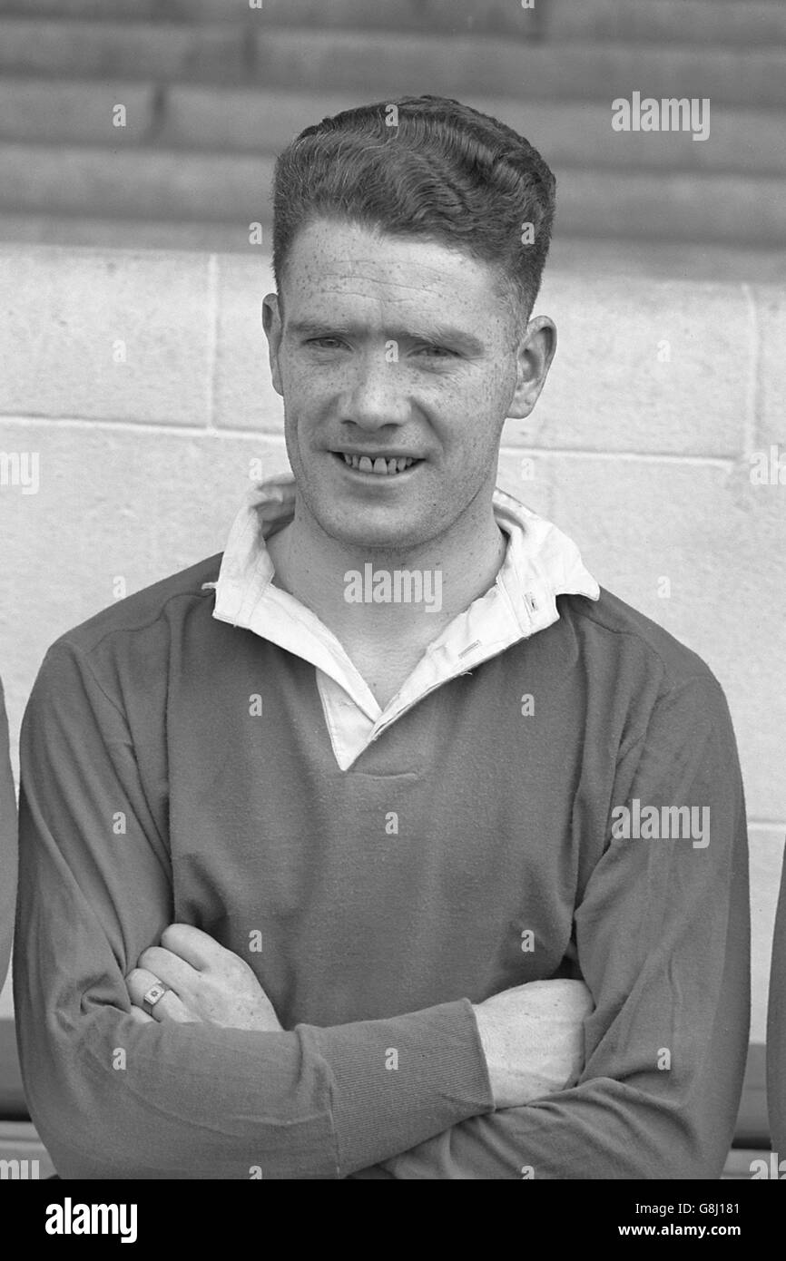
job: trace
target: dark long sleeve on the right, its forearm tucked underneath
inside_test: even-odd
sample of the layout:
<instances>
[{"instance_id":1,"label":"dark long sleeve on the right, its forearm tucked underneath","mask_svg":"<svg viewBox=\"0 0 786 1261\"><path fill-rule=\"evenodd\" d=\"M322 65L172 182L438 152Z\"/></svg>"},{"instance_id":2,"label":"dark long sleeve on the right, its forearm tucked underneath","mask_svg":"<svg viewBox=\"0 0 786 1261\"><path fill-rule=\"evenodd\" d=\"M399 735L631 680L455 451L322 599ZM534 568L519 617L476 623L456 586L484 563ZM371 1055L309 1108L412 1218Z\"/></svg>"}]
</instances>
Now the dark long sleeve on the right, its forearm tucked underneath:
<instances>
[{"instance_id":1,"label":"dark long sleeve on the right, its forearm tucked underneath","mask_svg":"<svg viewBox=\"0 0 786 1261\"><path fill-rule=\"evenodd\" d=\"M694 807L691 839L645 839L643 822L641 839L612 836L622 806L631 831L637 808L657 807L660 835L660 807ZM607 844L574 923L594 1001L578 1084L460 1122L361 1178L720 1175L748 1042L749 903L737 748L709 672L661 696L619 750Z\"/></svg>"}]
</instances>

